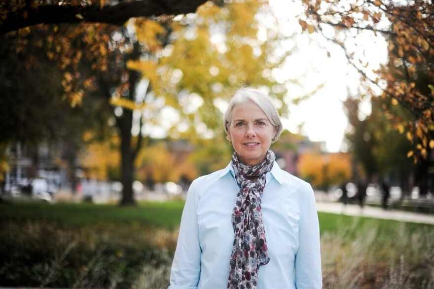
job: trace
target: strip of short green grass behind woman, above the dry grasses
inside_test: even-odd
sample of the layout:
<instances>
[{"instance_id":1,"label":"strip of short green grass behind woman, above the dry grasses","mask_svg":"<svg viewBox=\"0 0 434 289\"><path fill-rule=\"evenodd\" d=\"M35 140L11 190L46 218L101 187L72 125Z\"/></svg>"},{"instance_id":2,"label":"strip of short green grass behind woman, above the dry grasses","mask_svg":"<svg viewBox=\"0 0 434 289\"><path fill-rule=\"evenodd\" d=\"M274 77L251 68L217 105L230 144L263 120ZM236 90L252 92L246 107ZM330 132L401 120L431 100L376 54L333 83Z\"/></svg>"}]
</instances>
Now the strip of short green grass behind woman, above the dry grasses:
<instances>
[{"instance_id":1,"label":"strip of short green grass behind woman, above the dry grasses","mask_svg":"<svg viewBox=\"0 0 434 289\"><path fill-rule=\"evenodd\" d=\"M165 229L175 229L181 221L184 203L182 201L142 202L137 207L120 207L117 205L95 205L88 203L18 203L0 204L0 221L39 220L62 226L85 226L98 223L142 223ZM378 226L385 234L394 226L403 225L413 232L423 228L433 228L428 224L403 223L395 220L374 219L369 217L351 217L330 213L318 213L321 234L337 232L343 228Z\"/></svg>"}]
</instances>

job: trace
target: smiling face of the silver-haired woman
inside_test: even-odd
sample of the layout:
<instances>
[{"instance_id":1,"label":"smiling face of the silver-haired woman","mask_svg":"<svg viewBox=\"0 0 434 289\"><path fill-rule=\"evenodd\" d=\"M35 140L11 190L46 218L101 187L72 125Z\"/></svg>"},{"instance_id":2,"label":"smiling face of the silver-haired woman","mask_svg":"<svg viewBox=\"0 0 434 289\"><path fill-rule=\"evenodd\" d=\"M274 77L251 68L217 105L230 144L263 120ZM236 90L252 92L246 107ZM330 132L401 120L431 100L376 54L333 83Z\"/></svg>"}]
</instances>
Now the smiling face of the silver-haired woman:
<instances>
[{"instance_id":1,"label":"smiling face of the silver-haired woman","mask_svg":"<svg viewBox=\"0 0 434 289\"><path fill-rule=\"evenodd\" d=\"M227 126L228 139L241 163L254 166L264 161L276 132L261 108L252 101L235 105Z\"/></svg>"}]
</instances>

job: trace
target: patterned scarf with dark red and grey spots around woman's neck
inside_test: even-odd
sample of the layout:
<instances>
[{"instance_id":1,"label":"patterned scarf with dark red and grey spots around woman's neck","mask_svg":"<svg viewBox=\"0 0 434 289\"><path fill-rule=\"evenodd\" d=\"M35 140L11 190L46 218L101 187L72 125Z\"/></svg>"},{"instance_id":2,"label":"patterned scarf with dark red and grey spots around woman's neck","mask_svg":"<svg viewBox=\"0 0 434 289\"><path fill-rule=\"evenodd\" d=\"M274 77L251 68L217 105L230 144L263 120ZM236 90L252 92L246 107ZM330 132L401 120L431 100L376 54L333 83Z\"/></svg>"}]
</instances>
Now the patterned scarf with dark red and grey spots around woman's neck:
<instances>
[{"instance_id":1,"label":"patterned scarf with dark red and grey spots around woman's neck","mask_svg":"<svg viewBox=\"0 0 434 289\"><path fill-rule=\"evenodd\" d=\"M240 163L235 152L232 155L232 168L241 189L232 213L235 237L228 289L256 289L259 266L270 261L262 221L261 197L266 174L271 171L275 158L274 153L268 150L265 160L251 167ZM257 177L257 180L251 181L248 177Z\"/></svg>"}]
</instances>

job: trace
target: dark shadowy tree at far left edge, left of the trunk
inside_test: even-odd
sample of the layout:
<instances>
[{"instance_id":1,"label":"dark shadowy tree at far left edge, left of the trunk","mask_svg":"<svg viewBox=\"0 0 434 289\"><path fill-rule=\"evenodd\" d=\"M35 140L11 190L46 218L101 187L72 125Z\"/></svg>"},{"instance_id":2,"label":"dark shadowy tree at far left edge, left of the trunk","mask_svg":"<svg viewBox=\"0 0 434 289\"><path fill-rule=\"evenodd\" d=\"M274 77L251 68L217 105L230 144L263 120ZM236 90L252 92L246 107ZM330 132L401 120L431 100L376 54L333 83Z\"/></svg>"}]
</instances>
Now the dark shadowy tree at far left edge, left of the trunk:
<instances>
[{"instance_id":1,"label":"dark shadowy tree at far left edge, left of the trunk","mask_svg":"<svg viewBox=\"0 0 434 289\"><path fill-rule=\"evenodd\" d=\"M84 100L84 105L72 108L62 99L63 72L44 59L44 53L34 51L23 64L20 55L10 53L11 39L4 38L0 44L0 146L7 148L20 143L29 148L32 166L37 177L39 166L37 147L41 144L55 148L56 157L68 172L68 180L74 187L75 161L83 145L82 134L93 130L101 136L106 131L101 118L107 114L107 103L94 98ZM36 61L37 60L37 61ZM88 118L95 114L96 117ZM3 150L3 149L2 149Z\"/></svg>"}]
</instances>

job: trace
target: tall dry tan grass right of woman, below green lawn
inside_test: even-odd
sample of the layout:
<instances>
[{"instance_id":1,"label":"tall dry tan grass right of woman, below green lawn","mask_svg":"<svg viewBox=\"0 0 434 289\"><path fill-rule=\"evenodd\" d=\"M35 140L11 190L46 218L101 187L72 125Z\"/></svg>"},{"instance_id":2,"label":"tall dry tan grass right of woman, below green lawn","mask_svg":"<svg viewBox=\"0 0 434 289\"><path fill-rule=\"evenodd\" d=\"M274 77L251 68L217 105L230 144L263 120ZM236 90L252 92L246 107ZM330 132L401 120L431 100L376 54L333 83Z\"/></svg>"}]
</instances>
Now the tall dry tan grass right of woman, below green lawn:
<instances>
[{"instance_id":1,"label":"tall dry tan grass right of woman, below green lawn","mask_svg":"<svg viewBox=\"0 0 434 289\"><path fill-rule=\"evenodd\" d=\"M434 230L409 233L396 223L382 234L370 223L321 238L323 288L434 288Z\"/></svg>"}]
</instances>

